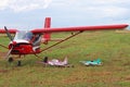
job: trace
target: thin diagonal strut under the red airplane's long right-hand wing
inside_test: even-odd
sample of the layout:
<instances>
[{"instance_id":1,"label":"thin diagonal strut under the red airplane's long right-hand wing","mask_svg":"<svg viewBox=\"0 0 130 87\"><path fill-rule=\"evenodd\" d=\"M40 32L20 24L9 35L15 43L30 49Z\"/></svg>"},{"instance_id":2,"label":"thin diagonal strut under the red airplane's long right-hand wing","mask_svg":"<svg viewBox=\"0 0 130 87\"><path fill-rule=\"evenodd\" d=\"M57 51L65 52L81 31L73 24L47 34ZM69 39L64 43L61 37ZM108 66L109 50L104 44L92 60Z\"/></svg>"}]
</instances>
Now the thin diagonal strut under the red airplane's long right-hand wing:
<instances>
[{"instance_id":1,"label":"thin diagonal strut under the red airplane's long right-hand wing","mask_svg":"<svg viewBox=\"0 0 130 87\"><path fill-rule=\"evenodd\" d=\"M78 32L78 33L76 33L76 34L73 34L73 35L70 35L69 37L67 37L67 38L65 38L65 39L63 39L63 40L61 40L61 41L58 41L58 42L50 46L50 47L47 47L47 48L42 49L40 52L43 52L43 51L46 51L46 50L48 50L48 49L50 49L50 48L52 48L52 47L54 47L54 46L56 46L56 45L60 45L61 42L66 41L66 40L70 39L72 37L75 37L76 35L79 35L79 34L81 34L81 33L83 33L83 30L80 30L80 32Z\"/></svg>"}]
</instances>

